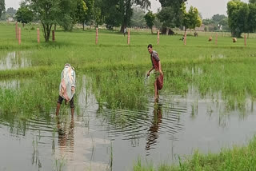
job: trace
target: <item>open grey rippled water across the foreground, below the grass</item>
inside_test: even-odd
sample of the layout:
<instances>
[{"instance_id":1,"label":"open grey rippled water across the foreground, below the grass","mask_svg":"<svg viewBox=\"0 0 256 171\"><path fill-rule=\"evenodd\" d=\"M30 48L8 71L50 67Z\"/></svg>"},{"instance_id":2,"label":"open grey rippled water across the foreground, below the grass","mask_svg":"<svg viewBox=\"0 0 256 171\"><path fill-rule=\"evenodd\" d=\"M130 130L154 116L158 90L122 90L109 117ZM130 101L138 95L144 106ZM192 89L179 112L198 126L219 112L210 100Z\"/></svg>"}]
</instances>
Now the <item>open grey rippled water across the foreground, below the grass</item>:
<instances>
[{"instance_id":1,"label":"open grey rippled water across the foreground, below the grass","mask_svg":"<svg viewBox=\"0 0 256 171\"><path fill-rule=\"evenodd\" d=\"M132 170L138 157L177 164L178 155L195 149L218 153L246 144L256 132L253 101L247 99L243 111L230 111L221 94L200 97L192 86L186 95L161 93L158 105L149 95L146 109L136 112L99 110L85 88L76 96L82 114L74 117L63 105L59 117L53 112L45 119L42 113L16 121L23 126L0 117L0 170Z\"/></svg>"}]
</instances>

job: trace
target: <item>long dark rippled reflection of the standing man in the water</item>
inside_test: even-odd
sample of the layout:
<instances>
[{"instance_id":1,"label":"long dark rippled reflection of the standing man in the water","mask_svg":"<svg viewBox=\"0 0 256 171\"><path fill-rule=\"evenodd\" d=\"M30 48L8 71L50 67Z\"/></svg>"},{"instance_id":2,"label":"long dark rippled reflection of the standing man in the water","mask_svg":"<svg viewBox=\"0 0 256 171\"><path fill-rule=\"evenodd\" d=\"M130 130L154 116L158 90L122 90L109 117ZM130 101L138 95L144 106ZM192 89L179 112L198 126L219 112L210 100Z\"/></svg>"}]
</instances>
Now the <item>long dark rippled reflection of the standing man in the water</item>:
<instances>
[{"instance_id":1,"label":"long dark rippled reflection of the standing man in the water","mask_svg":"<svg viewBox=\"0 0 256 171\"><path fill-rule=\"evenodd\" d=\"M154 119L150 126L148 136L146 138L146 150L151 149L151 145L156 144L158 139L158 129L162 123L162 105L156 103L154 105Z\"/></svg>"}]
</instances>

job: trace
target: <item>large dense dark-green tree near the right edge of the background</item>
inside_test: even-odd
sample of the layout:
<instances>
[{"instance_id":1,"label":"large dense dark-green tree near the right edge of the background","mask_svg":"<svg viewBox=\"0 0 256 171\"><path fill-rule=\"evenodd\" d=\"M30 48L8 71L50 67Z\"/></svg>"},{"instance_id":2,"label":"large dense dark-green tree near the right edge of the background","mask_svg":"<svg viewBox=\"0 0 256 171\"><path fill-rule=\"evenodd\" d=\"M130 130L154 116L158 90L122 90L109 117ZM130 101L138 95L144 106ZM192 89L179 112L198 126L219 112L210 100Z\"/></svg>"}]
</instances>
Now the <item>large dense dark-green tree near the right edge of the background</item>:
<instances>
[{"instance_id":1,"label":"large dense dark-green tree near the right edge of the background","mask_svg":"<svg viewBox=\"0 0 256 171\"><path fill-rule=\"evenodd\" d=\"M227 3L228 22L231 34L234 37L241 37L243 32L248 31L249 6L245 2L232 0Z\"/></svg>"}]
</instances>

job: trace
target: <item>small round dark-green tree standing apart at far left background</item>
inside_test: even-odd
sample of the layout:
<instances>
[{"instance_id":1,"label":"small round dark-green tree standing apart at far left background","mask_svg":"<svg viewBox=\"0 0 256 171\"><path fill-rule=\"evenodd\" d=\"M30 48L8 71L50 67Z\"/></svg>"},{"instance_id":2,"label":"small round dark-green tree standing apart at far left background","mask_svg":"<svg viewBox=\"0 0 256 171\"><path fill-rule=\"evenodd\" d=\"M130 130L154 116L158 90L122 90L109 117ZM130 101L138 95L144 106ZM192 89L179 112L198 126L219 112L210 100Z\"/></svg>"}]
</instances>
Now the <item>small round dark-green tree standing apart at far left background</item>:
<instances>
[{"instance_id":1,"label":"small round dark-green tree standing apart at far left background","mask_svg":"<svg viewBox=\"0 0 256 171\"><path fill-rule=\"evenodd\" d=\"M33 12L29 9L28 6L26 6L25 2L22 2L20 4L20 7L18 8L16 13L16 19L17 22L22 22L23 27L24 24L33 20Z\"/></svg>"}]
</instances>

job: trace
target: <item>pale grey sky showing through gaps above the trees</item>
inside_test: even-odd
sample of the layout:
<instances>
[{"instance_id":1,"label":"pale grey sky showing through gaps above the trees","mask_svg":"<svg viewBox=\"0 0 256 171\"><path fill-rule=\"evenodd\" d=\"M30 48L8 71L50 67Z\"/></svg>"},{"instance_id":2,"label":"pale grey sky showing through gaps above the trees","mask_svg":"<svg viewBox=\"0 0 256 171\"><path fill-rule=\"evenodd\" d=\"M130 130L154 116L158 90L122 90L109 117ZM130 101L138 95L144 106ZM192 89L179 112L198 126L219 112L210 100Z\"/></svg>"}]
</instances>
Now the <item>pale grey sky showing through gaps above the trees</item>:
<instances>
[{"instance_id":1,"label":"pale grey sky showing through gaps above the trees","mask_svg":"<svg viewBox=\"0 0 256 171\"><path fill-rule=\"evenodd\" d=\"M6 9L14 7L18 10L19 2L21 0L6 0ZM150 0L151 9L157 12L158 8L161 7L158 0ZM226 15L226 4L229 0L188 0L186 3L187 9L190 6L197 7L199 12L202 14L202 18L211 18L214 14L225 14ZM242 0L242 2L248 2L248 0Z\"/></svg>"}]
</instances>

